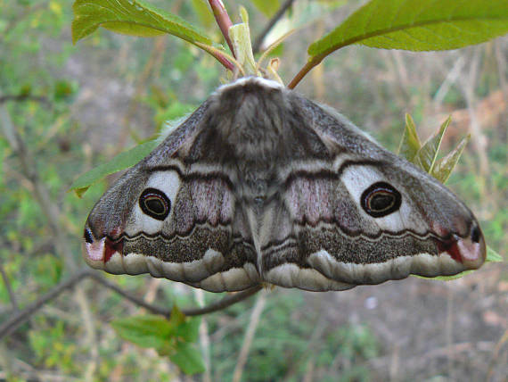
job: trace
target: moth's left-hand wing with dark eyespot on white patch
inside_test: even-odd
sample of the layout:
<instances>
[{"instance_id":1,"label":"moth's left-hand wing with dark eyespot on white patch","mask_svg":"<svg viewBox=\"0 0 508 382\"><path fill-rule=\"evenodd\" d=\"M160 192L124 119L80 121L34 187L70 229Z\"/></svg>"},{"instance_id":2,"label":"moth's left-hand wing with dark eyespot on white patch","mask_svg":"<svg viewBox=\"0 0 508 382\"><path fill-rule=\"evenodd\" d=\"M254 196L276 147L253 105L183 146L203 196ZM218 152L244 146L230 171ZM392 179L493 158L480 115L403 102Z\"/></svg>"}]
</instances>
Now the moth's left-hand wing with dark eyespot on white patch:
<instances>
[{"instance_id":1,"label":"moth's left-hand wing with dark eyespot on white patch","mask_svg":"<svg viewBox=\"0 0 508 382\"><path fill-rule=\"evenodd\" d=\"M203 129L206 108L95 204L85 228L89 265L116 274L149 272L214 292L258 284L250 232L227 173L196 170L180 154Z\"/></svg>"}]
</instances>

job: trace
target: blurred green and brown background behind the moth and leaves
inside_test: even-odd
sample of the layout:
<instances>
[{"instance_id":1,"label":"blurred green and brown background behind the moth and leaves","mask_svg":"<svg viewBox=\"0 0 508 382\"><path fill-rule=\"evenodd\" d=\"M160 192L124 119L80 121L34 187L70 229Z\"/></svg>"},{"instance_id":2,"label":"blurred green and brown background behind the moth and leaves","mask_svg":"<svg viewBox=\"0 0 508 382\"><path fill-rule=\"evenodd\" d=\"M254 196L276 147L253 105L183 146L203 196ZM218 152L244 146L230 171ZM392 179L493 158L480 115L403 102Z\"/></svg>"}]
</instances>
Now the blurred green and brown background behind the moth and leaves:
<instances>
[{"instance_id":1,"label":"blurred green and brown background behind the moth and leaves","mask_svg":"<svg viewBox=\"0 0 508 382\"><path fill-rule=\"evenodd\" d=\"M221 41L206 2L150 3ZM238 6L247 7L253 37L269 20L256 3L225 2L235 22ZM309 43L359 4L296 1L274 28L280 36L301 27L275 52L285 83L306 62ZM10 133L0 135L0 323L84 266L87 213L118 174L82 199L68 192L72 181L158 134L164 120L192 112L225 77L215 59L176 37L100 29L73 46L71 7L70 0L0 0L0 124L9 123L20 137L14 140L20 147L12 147ZM349 46L297 90L332 105L391 151L406 112L422 139L451 115L443 152L467 134L471 143L447 186L506 259L507 59L508 37L443 53ZM107 278L160 306L222 297L150 276ZM246 342L255 306L258 327ZM505 262L449 282L412 277L335 293L274 288L203 317L200 346L208 369L193 377L121 340L109 325L141 311L86 280L0 342L0 380L229 381L235 368L245 381L508 380ZM244 364L242 347L249 350Z\"/></svg>"}]
</instances>

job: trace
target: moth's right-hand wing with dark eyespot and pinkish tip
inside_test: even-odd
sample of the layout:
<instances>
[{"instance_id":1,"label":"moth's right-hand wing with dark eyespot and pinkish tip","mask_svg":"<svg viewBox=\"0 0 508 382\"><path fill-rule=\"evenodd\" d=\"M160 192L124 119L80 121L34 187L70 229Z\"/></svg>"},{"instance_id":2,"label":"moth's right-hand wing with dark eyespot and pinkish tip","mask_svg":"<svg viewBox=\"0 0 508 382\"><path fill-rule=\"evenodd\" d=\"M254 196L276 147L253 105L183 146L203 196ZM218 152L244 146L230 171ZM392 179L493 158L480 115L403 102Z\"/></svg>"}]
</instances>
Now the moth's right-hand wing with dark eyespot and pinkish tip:
<instances>
[{"instance_id":1,"label":"moth's right-hand wing with dark eyespot and pinkish tip","mask_svg":"<svg viewBox=\"0 0 508 382\"><path fill-rule=\"evenodd\" d=\"M454 275L485 261L471 211L436 179L337 112L297 96L302 123L332 161L292 163L262 223L262 278L340 290L410 274ZM284 229L277 229L284 227Z\"/></svg>"}]
</instances>

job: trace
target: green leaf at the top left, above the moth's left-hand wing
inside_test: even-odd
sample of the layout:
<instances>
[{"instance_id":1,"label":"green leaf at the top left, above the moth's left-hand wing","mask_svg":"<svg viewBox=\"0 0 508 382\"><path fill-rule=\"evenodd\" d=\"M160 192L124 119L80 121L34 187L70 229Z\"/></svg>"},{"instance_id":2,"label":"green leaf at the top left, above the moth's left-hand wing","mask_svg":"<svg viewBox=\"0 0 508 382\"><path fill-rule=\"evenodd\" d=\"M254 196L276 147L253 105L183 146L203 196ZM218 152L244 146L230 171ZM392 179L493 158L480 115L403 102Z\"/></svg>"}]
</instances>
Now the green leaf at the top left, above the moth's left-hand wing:
<instances>
[{"instance_id":1,"label":"green leaf at the top left, above the moth's left-hand wing","mask_svg":"<svg viewBox=\"0 0 508 382\"><path fill-rule=\"evenodd\" d=\"M74 43L102 27L140 37L168 33L190 43L211 44L209 37L187 21L141 0L76 0L73 10Z\"/></svg>"}]
</instances>

